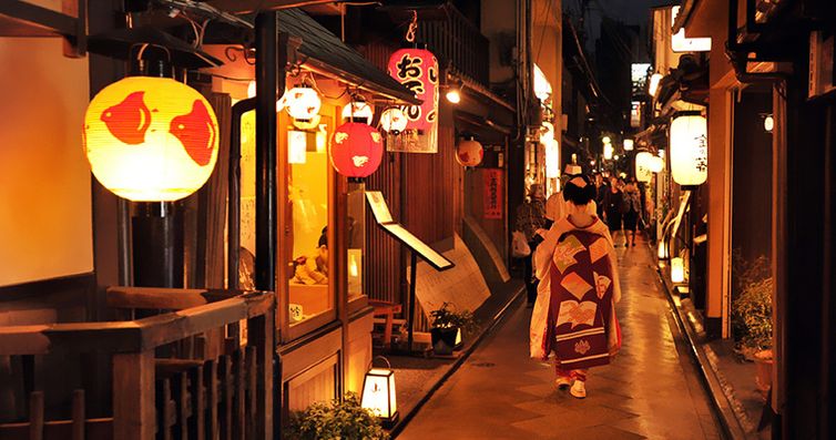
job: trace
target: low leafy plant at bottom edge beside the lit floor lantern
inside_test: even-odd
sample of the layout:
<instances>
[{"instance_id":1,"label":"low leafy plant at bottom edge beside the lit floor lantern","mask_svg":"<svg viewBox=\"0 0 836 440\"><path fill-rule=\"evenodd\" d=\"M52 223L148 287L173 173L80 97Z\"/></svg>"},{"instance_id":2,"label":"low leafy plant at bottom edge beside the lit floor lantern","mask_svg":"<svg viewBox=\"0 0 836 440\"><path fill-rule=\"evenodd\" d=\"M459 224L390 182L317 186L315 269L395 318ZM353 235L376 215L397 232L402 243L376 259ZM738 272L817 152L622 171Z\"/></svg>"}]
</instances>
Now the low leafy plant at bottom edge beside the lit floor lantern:
<instances>
[{"instance_id":1,"label":"low leafy plant at bottom edge beside the lit floor lantern","mask_svg":"<svg viewBox=\"0 0 836 440\"><path fill-rule=\"evenodd\" d=\"M386 440L389 434L378 419L360 406L360 398L347 392L343 400L317 402L290 419L288 440Z\"/></svg>"}]
</instances>

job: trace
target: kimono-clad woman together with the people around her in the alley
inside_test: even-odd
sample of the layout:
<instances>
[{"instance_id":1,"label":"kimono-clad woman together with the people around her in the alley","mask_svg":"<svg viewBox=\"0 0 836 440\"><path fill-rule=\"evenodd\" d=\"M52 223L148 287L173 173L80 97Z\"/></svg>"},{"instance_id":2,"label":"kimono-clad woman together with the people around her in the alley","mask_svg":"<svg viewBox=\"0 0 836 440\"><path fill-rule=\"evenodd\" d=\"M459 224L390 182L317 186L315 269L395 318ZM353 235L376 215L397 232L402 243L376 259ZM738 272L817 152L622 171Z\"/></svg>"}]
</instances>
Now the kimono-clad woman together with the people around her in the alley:
<instances>
[{"instance_id":1,"label":"kimono-clad woman together with the people around her in the alley","mask_svg":"<svg viewBox=\"0 0 836 440\"><path fill-rule=\"evenodd\" d=\"M635 246L642 204L634 180L606 184L569 165L561 183L548 201L540 184L530 185L517 209L516 241L526 243L514 250L522 245L531 357L553 358L555 386L583 399L589 369L610 364L621 347L615 248Z\"/></svg>"}]
</instances>

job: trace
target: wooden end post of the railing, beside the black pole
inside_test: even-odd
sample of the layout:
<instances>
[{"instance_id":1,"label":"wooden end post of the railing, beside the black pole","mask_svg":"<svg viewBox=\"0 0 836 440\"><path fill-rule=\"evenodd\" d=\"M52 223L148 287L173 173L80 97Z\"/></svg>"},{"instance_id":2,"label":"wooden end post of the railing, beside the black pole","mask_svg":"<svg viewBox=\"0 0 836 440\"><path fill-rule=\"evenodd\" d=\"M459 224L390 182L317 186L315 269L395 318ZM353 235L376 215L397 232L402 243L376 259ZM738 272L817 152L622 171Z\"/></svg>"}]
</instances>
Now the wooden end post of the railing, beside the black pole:
<instances>
[{"instance_id":1,"label":"wooden end post of the railing, beside the black pole","mask_svg":"<svg viewBox=\"0 0 836 440\"><path fill-rule=\"evenodd\" d=\"M256 347L258 407L256 410L257 439L273 438L273 357L275 356L275 317L274 308L264 315L247 320L248 345Z\"/></svg>"}]
</instances>

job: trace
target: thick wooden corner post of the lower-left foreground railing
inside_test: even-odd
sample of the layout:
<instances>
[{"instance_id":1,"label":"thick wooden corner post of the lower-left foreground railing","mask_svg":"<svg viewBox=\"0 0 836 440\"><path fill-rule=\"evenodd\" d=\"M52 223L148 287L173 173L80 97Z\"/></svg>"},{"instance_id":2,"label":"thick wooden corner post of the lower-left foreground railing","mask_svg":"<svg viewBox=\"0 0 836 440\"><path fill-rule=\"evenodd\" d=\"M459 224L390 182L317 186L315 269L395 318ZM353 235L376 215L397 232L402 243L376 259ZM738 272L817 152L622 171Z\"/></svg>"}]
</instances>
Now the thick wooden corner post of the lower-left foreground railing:
<instances>
[{"instance_id":1,"label":"thick wooden corner post of the lower-left foreground railing","mask_svg":"<svg viewBox=\"0 0 836 440\"><path fill-rule=\"evenodd\" d=\"M114 439L154 438L154 350L113 355Z\"/></svg>"}]
</instances>

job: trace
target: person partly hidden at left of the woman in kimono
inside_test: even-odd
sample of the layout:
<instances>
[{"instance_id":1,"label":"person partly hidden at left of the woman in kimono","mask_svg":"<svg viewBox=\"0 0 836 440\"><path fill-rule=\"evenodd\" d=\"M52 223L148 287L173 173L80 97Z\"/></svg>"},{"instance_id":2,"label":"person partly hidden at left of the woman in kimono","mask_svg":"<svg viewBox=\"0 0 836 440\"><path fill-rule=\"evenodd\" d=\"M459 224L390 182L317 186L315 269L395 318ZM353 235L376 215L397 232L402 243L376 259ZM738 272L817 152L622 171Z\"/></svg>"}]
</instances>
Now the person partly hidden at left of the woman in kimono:
<instances>
[{"instance_id":1,"label":"person partly hidden at left of the woman in kimono","mask_svg":"<svg viewBox=\"0 0 836 440\"><path fill-rule=\"evenodd\" d=\"M534 305L537 298L537 279L534 279L531 258L534 249L543 241L546 234L546 195L540 184L531 184L529 187L528 199L517 207L516 231L521 231L526 235L531 254L523 258L522 276L526 280L526 290L528 294L528 305Z\"/></svg>"}]
</instances>

